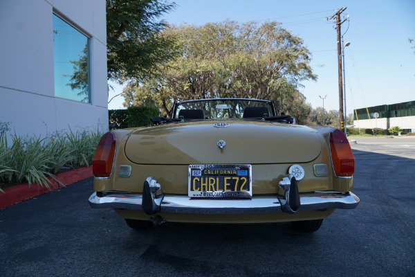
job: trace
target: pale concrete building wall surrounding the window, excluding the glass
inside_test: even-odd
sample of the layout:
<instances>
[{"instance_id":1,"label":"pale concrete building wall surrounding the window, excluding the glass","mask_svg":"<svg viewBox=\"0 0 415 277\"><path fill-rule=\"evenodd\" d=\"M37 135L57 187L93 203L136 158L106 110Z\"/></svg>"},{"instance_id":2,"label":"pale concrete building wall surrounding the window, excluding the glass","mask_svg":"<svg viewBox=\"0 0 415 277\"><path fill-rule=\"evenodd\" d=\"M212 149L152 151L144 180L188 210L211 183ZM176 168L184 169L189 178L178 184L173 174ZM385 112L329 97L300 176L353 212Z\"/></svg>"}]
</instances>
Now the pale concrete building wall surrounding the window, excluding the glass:
<instances>
[{"instance_id":1,"label":"pale concrete building wall surrounding the window, excluding the glass","mask_svg":"<svg viewBox=\"0 0 415 277\"><path fill-rule=\"evenodd\" d=\"M56 98L53 12L90 41L91 103ZM108 127L104 0L0 0L0 123L17 134Z\"/></svg>"}]
</instances>

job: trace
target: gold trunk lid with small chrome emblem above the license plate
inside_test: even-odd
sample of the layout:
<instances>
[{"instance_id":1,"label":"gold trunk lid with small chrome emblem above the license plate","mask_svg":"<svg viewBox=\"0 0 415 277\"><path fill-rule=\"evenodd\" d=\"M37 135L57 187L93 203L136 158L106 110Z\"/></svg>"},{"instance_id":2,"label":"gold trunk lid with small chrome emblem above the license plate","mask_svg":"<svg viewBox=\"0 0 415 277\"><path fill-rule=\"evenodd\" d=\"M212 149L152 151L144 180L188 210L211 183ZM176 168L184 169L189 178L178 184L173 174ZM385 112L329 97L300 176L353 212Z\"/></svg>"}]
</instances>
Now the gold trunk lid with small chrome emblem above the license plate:
<instances>
[{"instance_id":1,"label":"gold trunk lid with small chrome emblem above the license plate","mask_svg":"<svg viewBox=\"0 0 415 277\"><path fill-rule=\"evenodd\" d=\"M225 141L222 149L219 141ZM321 143L321 134L300 125L203 120L138 129L125 154L140 164L306 163L318 157Z\"/></svg>"}]
</instances>

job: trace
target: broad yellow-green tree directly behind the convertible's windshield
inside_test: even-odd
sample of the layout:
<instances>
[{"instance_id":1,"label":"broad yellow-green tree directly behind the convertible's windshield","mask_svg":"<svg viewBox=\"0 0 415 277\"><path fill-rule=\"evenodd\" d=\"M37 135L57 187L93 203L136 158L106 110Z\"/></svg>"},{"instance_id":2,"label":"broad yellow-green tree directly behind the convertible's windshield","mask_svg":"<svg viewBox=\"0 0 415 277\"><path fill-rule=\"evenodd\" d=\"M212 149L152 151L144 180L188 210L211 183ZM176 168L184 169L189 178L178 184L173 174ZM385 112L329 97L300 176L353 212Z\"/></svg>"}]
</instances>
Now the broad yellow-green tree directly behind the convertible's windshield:
<instances>
[{"instance_id":1,"label":"broad yellow-green tree directly behind the convertible's windshield","mask_svg":"<svg viewBox=\"0 0 415 277\"><path fill-rule=\"evenodd\" d=\"M316 79L311 53L276 21L171 26L163 36L176 40L180 55L159 64L160 74L140 85L158 94L166 114L167 99L237 97L277 100L280 112L308 116L311 107L298 87Z\"/></svg>"}]
</instances>

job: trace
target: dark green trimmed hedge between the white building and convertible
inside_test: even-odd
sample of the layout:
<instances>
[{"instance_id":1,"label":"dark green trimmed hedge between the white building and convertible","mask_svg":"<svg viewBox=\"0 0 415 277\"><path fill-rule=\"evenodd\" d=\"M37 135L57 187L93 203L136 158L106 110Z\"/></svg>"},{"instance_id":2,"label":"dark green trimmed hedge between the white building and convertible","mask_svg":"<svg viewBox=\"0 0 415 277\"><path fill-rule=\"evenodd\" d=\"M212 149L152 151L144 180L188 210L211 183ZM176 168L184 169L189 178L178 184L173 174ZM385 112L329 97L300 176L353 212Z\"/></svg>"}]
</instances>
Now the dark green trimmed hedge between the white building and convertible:
<instances>
[{"instance_id":1,"label":"dark green trimmed hedge between the white building and convertible","mask_svg":"<svg viewBox=\"0 0 415 277\"><path fill-rule=\"evenodd\" d=\"M159 116L155 107L128 107L127 109L109 109L110 129L124 129L151 125L150 118ZM114 126L115 125L115 126Z\"/></svg>"}]
</instances>

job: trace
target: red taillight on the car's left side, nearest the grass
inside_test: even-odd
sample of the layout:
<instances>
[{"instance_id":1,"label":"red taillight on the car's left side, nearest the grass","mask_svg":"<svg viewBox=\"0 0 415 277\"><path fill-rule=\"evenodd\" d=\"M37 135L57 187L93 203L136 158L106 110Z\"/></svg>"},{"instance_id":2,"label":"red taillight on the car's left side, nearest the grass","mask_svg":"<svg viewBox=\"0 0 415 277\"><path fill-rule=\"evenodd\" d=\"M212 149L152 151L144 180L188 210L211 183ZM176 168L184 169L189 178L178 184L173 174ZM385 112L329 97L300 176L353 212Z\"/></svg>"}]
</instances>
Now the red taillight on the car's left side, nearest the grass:
<instances>
[{"instance_id":1,"label":"red taillight on the car's left side, nearest the grass","mask_svg":"<svg viewBox=\"0 0 415 277\"><path fill-rule=\"evenodd\" d=\"M102 136L93 155L92 172L95 177L109 177L111 175L114 154L116 152L116 135L108 132Z\"/></svg>"}]
</instances>

